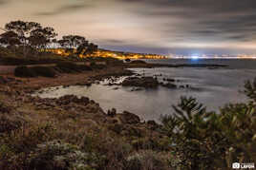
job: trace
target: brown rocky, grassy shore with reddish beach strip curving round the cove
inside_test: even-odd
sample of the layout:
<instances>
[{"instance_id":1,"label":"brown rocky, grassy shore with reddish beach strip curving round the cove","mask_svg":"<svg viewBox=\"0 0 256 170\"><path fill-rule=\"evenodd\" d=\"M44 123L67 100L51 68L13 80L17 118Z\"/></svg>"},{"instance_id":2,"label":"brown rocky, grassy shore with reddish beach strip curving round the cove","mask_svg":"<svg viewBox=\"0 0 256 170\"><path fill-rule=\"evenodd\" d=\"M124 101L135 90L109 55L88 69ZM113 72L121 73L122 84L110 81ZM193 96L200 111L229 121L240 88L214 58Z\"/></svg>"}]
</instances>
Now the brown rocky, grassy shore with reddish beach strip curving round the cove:
<instances>
[{"instance_id":1,"label":"brown rocky, grassy shore with reddish beach strip curving round the cove","mask_svg":"<svg viewBox=\"0 0 256 170\"><path fill-rule=\"evenodd\" d=\"M5 157L1 156L2 153L0 154L3 159L0 162L0 169L15 169L21 166L40 169L42 164L51 166L52 169L65 169L68 166L74 168L77 165L74 159L79 160L80 155L72 156L72 153L81 153L82 157L86 157L79 161L81 167L101 169L108 166L111 168L113 164L110 162L117 159L112 154L123 153L124 146L129 146L129 151L125 151L127 153L122 156L122 160L119 160L124 161L122 162L124 164L129 163L129 156L148 152L146 150L151 150L150 152L154 154L157 154L155 153L157 151L162 152L161 157L168 154L166 151L170 150L169 140L158 130L160 124L154 121L141 122L139 116L129 111L117 113L115 108L104 112L99 104L87 97L77 98L74 95L67 95L59 99L41 99L31 96L33 91L44 87L91 85L113 76L132 74L124 67L117 66L97 72L62 74L54 79L1 76L0 136L3 138L0 143L10 148L11 153ZM26 131L25 134L24 131ZM92 138L94 142L101 144L88 145L87 138ZM71 144L75 145L75 150L72 149L74 147L70 147ZM42 157L46 147L55 148L56 146L60 149L59 151L48 150L52 154L52 160ZM84 147L86 150L82 149ZM89 152L88 149L92 149L94 153ZM99 160L88 161L96 155L103 156L100 156L100 159L96 157ZM62 159L57 159L59 157ZM104 165L101 164L102 159ZM164 161L160 158L157 160L162 167L165 167ZM115 163L118 164L119 161ZM127 169L131 168L127 167Z\"/></svg>"}]
</instances>

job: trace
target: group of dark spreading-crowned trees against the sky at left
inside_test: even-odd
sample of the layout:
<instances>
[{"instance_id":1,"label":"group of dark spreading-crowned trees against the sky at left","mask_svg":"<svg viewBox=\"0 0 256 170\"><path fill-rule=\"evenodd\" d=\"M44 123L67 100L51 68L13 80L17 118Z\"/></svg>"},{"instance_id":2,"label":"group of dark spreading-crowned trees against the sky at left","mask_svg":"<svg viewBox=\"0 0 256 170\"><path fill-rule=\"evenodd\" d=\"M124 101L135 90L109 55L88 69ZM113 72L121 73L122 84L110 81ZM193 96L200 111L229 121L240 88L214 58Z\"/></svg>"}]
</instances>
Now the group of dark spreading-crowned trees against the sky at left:
<instances>
[{"instance_id":1,"label":"group of dark spreading-crowned trees against the sky at left","mask_svg":"<svg viewBox=\"0 0 256 170\"><path fill-rule=\"evenodd\" d=\"M21 50L26 57L30 52L46 51L47 48L66 48L74 54L90 54L97 50L97 46L89 43L85 37L79 35L65 35L57 40L54 28L42 27L36 22L11 21L2 28L0 45L11 50Z\"/></svg>"}]
</instances>

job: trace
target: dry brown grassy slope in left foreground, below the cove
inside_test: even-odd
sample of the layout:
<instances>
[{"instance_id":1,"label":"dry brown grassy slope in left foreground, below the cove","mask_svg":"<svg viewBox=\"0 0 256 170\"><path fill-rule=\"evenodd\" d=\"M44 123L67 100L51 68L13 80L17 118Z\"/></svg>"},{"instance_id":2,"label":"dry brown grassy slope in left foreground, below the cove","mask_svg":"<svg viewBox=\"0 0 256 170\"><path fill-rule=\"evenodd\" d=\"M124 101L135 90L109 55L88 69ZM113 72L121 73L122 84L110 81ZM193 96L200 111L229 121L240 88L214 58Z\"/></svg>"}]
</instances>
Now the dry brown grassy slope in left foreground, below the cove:
<instances>
[{"instance_id":1,"label":"dry brown grassy slope in left foreground, below the cove","mask_svg":"<svg viewBox=\"0 0 256 170\"><path fill-rule=\"evenodd\" d=\"M10 98L1 92L0 96L3 103ZM14 100L11 103L18 104L20 101ZM31 103L22 103L15 108L6 104L3 107L6 111L2 114L11 117L8 122L12 123L11 120L18 121L21 118L24 120L15 128L0 132L0 169L3 170L41 167L128 170L132 163L128 158L143 151L133 145L136 139L148 137L144 140L146 142L153 136L156 139L151 141L160 140L158 133L150 132L143 126L139 127L142 136L134 133L132 129L137 127L129 124L123 124L123 132L120 134L109 130L111 123L108 123L106 115L100 110L92 111L98 107L94 103L56 105L51 109L37 109ZM77 112L69 107L80 107L81 111ZM22 114L20 117L10 114L15 112ZM153 148L147 146L146 149ZM152 154L152 158L157 158L160 152L166 154L163 150L148 152L148 157L141 160L141 163L145 165L149 154ZM157 160L156 162L165 161Z\"/></svg>"}]
</instances>

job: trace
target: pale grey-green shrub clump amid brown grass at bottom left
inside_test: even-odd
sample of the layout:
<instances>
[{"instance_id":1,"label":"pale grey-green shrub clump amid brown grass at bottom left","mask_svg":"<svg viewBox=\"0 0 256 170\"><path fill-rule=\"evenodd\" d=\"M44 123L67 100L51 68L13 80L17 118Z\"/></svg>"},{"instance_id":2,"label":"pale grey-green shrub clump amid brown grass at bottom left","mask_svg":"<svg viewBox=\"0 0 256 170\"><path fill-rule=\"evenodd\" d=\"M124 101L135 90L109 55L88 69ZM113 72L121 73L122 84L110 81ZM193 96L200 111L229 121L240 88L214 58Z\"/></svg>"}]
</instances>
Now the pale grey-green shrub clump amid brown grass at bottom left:
<instances>
[{"instance_id":1,"label":"pale grey-green shrub clump amid brown grass at bottom left","mask_svg":"<svg viewBox=\"0 0 256 170\"><path fill-rule=\"evenodd\" d=\"M76 145L53 141L37 145L31 153L29 168L93 170L100 159L94 153L81 152Z\"/></svg>"}]
</instances>

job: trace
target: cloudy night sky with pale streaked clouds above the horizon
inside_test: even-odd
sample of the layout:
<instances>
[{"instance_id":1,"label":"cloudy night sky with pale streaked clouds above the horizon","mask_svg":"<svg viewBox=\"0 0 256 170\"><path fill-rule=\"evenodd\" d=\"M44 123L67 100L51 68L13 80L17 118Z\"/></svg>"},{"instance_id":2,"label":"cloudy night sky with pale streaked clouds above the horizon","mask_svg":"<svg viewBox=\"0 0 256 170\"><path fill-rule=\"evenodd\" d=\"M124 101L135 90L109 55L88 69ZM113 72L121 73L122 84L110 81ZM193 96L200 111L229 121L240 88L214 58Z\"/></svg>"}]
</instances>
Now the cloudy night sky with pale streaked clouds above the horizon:
<instances>
[{"instance_id":1,"label":"cloudy night sky with pale streaked clouds above the horizon","mask_svg":"<svg viewBox=\"0 0 256 170\"><path fill-rule=\"evenodd\" d=\"M256 53L256 0L0 0L0 26L18 19L111 49Z\"/></svg>"}]
</instances>

